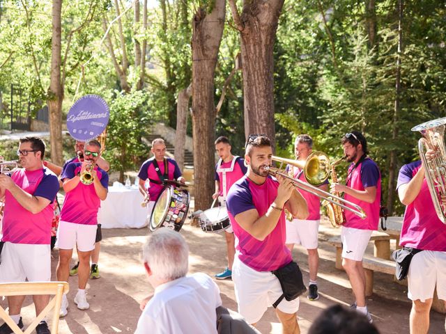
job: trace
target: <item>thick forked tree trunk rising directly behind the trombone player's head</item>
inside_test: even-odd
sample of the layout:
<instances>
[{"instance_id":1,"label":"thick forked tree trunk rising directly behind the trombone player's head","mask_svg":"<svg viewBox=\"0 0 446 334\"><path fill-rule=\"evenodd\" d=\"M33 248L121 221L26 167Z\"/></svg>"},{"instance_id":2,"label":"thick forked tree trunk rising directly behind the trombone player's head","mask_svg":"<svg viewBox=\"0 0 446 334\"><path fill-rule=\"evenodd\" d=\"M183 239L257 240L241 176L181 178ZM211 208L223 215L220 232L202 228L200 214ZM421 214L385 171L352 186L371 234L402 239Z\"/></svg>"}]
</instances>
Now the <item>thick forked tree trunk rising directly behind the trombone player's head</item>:
<instances>
[{"instance_id":1,"label":"thick forked tree trunk rising directly behind the trombone player's head","mask_svg":"<svg viewBox=\"0 0 446 334\"><path fill-rule=\"evenodd\" d=\"M243 1L242 14L230 0L240 43L243 67L245 136L266 134L275 146L274 60L272 51L284 0Z\"/></svg>"}]
</instances>

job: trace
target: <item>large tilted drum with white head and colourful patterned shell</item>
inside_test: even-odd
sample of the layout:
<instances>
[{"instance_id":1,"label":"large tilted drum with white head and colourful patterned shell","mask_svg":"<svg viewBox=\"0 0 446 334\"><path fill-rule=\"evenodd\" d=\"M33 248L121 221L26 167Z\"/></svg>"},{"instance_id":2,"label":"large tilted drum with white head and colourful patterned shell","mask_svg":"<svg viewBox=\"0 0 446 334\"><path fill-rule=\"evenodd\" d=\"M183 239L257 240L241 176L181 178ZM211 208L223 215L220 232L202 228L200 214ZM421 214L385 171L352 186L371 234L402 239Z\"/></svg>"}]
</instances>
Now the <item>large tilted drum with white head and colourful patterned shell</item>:
<instances>
[{"instance_id":1,"label":"large tilted drum with white head and colourful patterned shell","mask_svg":"<svg viewBox=\"0 0 446 334\"><path fill-rule=\"evenodd\" d=\"M148 228L153 232L164 226L178 232L186 220L189 202L189 191L174 185L166 186L155 202Z\"/></svg>"}]
</instances>

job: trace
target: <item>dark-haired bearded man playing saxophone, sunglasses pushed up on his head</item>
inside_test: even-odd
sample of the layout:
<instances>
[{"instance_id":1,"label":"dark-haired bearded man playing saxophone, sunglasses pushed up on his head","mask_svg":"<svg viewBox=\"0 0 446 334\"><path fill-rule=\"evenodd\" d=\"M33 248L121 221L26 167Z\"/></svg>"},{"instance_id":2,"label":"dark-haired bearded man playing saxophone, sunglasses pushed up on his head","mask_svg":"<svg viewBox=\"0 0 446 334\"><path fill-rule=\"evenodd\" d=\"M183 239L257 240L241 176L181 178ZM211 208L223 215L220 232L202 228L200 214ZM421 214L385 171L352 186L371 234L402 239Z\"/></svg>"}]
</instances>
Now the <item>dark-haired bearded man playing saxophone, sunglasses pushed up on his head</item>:
<instances>
[{"instance_id":1,"label":"dark-haired bearded man playing saxophone, sunglasses pushed up on his head","mask_svg":"<svg viewBox=\"0 0 446 334\"><path fill-rule=\"evenodd\" d=\"M348 167L346 184L333 183L332 192L344 192L344 199L359 205L367 215L362 219L348 210L344 211L346 223L341 231L342 267L350 280L358 312L371 315L365 303L365 273L362 257L369 244L371 232L378 230L381 177L376 163L367 157L367 141L357 131L348 132L341 141L346 160L352 164Z\"/></svg>"}]
</instances>

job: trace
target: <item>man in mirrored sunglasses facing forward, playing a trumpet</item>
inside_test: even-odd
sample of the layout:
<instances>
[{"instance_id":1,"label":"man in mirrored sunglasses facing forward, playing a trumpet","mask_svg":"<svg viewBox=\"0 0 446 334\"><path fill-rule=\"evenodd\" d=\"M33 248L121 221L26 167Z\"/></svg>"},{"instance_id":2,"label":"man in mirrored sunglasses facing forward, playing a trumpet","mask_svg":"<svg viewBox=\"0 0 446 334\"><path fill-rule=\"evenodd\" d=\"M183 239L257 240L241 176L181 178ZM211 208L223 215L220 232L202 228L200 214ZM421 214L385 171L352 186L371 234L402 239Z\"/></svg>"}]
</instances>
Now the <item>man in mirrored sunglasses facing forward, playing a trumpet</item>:
<instances>
[{"instance_id":1,"label":"man in mirrored sunglasses facing forward, playing a trumpet","mask_svg":"<svg viewBox=\"0 0 446 334\"><path fill-rule=\"evenodd\" d=\"M66 197L57 231L57 246L59 247L57 279L68 281L72 248L77 244L79 289L75 296L75 303L79 310L90 307L86 301L85 287L89 280L91 251L95 248L98 209L100 201L107 198L108 191L109 175L96 165L99 158L100 143L96 140L89 141L84 150L84 161L68 164L61 176ZM81 180L88 180L86 173L90 173L93 178L91 184L81 182ZM64 295L61 316L67 314L67 308L68 300Z\"/></svg>"}]
</instances>

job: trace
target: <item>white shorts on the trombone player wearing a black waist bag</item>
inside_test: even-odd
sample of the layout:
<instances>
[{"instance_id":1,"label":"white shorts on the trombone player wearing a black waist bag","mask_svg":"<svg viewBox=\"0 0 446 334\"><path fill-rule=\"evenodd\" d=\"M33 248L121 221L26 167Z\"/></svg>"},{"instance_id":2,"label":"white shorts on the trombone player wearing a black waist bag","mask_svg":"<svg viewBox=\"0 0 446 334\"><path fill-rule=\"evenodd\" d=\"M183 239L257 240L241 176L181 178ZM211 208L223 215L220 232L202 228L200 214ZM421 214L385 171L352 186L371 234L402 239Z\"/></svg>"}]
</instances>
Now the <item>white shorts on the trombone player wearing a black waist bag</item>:
<instances>
[{"instance_id":1,"label":"white shorts on the trombone player wearing a black waist bag","mask_svg":"<svg viewBox=\"0 0 446 334\"><path fill-rule=\"evenodd\" d=\"M238 312L248 324L255 324L263 313L282 296L282 287L270 271L256 271L240 261L238 253L232 265L232 280L236 292ZM277 305L282 312L293 314L299 310L299 298Z\"/></svg>"}]
</instances>

